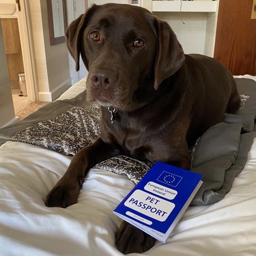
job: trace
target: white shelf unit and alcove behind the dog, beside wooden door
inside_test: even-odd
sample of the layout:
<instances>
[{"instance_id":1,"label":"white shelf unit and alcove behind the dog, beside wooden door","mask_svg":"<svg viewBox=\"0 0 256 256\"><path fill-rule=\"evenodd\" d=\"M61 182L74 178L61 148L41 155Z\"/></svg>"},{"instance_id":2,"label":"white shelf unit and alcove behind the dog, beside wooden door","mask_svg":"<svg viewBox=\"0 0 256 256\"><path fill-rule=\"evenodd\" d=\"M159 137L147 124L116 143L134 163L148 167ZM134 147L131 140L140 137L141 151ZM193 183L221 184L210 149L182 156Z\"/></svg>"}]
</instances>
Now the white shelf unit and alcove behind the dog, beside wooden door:
<instances>
[{"instance_id":1,"label":"white shelf unit and alcove behind the dog, beside wooden door","mask_svg":"<svg viewBox=\"0 0 256 256\"><path fill-rule=\"evenodd\" d=\"M213 57L218 0L152 1L151 11L169 23L185 53Z\"/></svg>"}]
</instances>

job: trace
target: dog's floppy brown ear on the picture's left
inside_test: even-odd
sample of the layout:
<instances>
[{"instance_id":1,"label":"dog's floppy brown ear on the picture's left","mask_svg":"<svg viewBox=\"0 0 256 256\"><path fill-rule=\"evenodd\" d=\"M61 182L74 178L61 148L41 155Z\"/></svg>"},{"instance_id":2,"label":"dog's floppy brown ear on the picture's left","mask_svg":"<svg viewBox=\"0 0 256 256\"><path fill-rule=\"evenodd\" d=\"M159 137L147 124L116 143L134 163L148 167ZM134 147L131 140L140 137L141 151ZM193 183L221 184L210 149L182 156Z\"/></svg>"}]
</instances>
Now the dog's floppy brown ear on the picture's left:
<instances>
[{"instance_id":1,"label":"dog's floppy brown ear on the picture's left","mask_svg":"<svg viewBox=\"0 0 256 256\"><path fill-rule=\"evenodd\" d=\"M66 44L68 51L70 51L74 61L76 61L76 71L79 71L79 57L81 54L83 31L87 26L89 18L91 18L97 8L98 5L92 5L85 14L76 18L66 29ZM87 68L87 60L84 61Z\"/></svg>"}]
</instances>

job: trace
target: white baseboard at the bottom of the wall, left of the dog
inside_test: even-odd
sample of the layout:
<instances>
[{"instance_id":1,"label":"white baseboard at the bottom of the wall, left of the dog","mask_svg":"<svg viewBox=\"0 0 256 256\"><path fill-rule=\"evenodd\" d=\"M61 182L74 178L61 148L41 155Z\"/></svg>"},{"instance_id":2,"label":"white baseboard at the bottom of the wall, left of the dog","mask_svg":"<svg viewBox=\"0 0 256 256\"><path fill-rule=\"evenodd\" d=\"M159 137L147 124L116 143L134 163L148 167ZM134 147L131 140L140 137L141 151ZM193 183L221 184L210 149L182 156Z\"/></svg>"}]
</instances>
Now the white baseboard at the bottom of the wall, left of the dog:
<instances>
[{"instance_id":1,"label":"white baseboard at the bottom of the wall, left of the dog","mask_svg":"<svg viewBox=\"0 0 256 256\"><path fill-rule=\"evenodd\" d=\"M67 79L65 82L61 83L58 87L53 89L53 91L40 91L38 93L38 99L42 102L53 102L53 100L57 99L71 85L71 79Z\"/></svg>"}]
</instances>

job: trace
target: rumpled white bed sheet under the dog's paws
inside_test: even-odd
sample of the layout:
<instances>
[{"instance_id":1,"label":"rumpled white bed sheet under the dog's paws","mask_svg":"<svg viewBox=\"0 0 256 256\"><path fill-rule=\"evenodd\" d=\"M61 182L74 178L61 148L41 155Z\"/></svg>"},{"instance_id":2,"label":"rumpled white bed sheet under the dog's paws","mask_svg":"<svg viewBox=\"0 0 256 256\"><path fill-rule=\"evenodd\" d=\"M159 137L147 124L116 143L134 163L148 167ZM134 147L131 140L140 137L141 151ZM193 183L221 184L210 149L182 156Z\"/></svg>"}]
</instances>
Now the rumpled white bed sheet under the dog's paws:
<instances>
[{"instance_id":1,"label":"rumpled white bed sheet under the dog's paws","mask_svg":"<svg viewBox=\"0 0 256 256\"><path fill-rule=\"evenodd\" d=\"M134 185L91 169L77 204L46 208L48 191L69 163L43 147L11 141L0 147L0 255L122 255L114 241L121 220L112 211ZM167 244L157 242L143 255L256 255L256 139L227 196L188 208Z\"/></svg>"}]
</instances>

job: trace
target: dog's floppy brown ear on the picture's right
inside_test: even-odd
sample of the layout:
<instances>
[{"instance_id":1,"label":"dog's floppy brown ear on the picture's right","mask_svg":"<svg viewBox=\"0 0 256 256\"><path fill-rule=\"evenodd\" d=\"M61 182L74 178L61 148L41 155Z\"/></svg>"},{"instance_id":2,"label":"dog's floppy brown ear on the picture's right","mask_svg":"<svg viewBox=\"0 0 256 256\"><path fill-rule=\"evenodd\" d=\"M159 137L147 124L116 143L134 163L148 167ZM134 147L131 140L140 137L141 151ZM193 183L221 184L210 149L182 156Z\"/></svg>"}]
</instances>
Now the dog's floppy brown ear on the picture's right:
<instances>
[{"instance_id":1,"label":"dog's floppy brown ear on the picture's right","mask_svg":"<svg viewBox=\"0 0 256 256\"><path fill-rule=\"evenodd\" d=\"M185 59L184 51L171 27L162 20L156 20L157 53L154 88L174 74Z\"/></svg>"}]
</instances>

